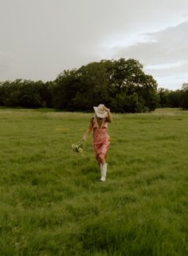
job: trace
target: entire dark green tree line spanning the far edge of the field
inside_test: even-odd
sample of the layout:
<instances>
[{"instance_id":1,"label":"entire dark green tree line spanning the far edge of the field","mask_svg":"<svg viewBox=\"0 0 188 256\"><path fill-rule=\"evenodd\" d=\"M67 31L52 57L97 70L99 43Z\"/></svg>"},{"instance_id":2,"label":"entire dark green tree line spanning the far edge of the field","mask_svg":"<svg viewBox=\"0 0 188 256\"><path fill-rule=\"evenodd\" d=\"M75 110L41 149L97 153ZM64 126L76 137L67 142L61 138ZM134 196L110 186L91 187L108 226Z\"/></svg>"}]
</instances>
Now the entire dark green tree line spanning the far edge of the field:
<instances>
[{"instance_id":1,"label":"entire dark green tree line spanning the far edge of the field","mask_svg":"<svg viewBox=\"0 0 188 256\"><path fill-rule=\"evenodd\" d=\"M182 90L158 90L155 79L132 58L91 62L64 70L50 82L0 82L0 106L89 111L101 102L119 113L166 106L188 109L188 85L184 84Z\"/></svg>"}]
</instances>

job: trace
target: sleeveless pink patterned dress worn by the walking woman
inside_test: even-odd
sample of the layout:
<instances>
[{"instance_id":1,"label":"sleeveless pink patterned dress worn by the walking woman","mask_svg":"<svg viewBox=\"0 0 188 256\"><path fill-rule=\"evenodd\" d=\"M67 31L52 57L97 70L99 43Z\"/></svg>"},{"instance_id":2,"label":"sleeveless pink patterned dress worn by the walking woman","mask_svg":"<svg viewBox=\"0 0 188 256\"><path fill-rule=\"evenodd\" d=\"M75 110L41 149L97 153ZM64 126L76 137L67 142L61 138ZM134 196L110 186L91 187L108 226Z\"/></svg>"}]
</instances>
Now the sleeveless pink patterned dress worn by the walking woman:
<instances>
[{"instance_id":1,"label":"sleeveless pink patterned dress worn by the walking woman","mask_svg":"<svg viewBox=\"0 0 188 256\"><path fill-rule=\"evenodd\" d=\"M96 118L92 121L92 141L93 148L96 152L96 160L99 162L99 155L102 154L104 158L107 158L108 148L110 146L110 136L107 132L108 122L106 119L103 120L99 127Z\"/></svg>"}]
</instances>

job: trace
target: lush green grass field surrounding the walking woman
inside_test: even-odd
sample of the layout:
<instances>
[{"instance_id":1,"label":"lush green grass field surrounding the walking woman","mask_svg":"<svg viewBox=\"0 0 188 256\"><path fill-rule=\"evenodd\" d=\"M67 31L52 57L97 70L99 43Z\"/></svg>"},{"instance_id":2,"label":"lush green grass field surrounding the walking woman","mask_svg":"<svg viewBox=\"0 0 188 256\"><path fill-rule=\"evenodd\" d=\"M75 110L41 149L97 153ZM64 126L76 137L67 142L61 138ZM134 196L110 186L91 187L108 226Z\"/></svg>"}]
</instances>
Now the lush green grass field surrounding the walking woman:
<instances>
[{"instance_id":1,"label":"lush green grass field surrounding the walking woman","mask_svg":"<svg viewBox=\"0 0 188 256\"><path fill-rule=\"evenodd\" d=\"M0 109L0 255L188 255L188 111L114 114L105 183L91 117Z\"/></svg>"}]
</instances>

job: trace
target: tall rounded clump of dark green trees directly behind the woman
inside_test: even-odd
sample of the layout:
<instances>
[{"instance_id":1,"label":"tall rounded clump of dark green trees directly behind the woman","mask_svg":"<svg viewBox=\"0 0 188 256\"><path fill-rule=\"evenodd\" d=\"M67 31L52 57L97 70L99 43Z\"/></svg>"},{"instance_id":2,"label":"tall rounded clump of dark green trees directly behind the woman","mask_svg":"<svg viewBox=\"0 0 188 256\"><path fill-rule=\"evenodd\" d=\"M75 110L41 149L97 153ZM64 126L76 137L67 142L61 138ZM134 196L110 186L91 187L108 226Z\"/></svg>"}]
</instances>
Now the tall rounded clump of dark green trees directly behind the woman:
<instances>
[{"instance_id":1,"label":"tall rounded clump of dark green trees directly behind the woman","mask_svg":"<svg viewBox=\"0 0 188 256\"><path fill-rule=\"evenodd\" d=\"M57 108L91 110L104 102L115 112L155 110L157 82L135 59L101 60L67 70L54 81Z\"/></svg>"}]
</instances>

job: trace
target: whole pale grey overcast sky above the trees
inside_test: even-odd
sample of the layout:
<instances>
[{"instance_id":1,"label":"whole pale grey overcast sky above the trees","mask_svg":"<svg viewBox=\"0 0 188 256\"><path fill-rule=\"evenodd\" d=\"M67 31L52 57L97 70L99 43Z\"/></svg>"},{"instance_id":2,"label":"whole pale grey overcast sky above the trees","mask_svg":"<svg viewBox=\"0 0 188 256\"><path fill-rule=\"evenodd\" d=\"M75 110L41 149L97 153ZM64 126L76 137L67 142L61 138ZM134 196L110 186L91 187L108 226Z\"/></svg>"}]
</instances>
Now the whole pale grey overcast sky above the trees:
<instances>
[{"instance_id":1,"label":"whole pale grey overcast sky above the trees","mask_svg":"<svg viewBox=\"0 0 188 256\"><path fill-rule=\"evenodd\" d=\"M188 82L188 0L0 0L0 81L54 80L135 58L170 90Z\"/></svg>"}]
</instances>

